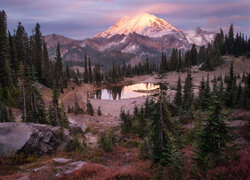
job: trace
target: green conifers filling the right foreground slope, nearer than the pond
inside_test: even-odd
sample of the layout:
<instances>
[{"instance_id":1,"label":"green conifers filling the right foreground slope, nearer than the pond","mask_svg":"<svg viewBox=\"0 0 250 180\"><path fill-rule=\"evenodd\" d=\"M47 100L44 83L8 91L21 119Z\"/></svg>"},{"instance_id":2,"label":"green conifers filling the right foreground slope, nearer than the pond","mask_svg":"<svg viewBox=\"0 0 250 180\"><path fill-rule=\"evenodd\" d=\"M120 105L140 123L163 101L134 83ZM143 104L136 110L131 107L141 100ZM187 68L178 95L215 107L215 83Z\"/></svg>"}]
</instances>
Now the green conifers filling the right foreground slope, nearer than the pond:
<instances>
[{"instance_id":1,"label":"green conifers filling the right foreground slope, nearer than the pond","mask_svg":"<svg viewBox=\"0 0 250 180\"><path fill-rule=\"evenodd\" d=\"M235 74L233 64L224 78L218 76L210 80L207 76L206 81L202 78L197 97L193 93L192 81L188 69L184 87L179 77L172 102L161 90L158 98L147 98L144 105L135 106L133 114L124 110L120 113L122 134L140 138L141 158L150 159L161 173L167 169L168 174L165 175L171 177L174 174L176 179L185 176L182 173L185 158L181 149L186 141L191 141L197 149L194 159L196 174L193 173L191 179L197 179L199 173L205 177L211 168L229 161L227 154L232 153L230 142L233 137L224 109L250 109L250 74ZM195 121L194 128L190 130L193 133L191 140L188 139L189 134L183 134L182 128L190 121ZM163 174L161 176L164 177Z\"/></svg>"}]
</instances>

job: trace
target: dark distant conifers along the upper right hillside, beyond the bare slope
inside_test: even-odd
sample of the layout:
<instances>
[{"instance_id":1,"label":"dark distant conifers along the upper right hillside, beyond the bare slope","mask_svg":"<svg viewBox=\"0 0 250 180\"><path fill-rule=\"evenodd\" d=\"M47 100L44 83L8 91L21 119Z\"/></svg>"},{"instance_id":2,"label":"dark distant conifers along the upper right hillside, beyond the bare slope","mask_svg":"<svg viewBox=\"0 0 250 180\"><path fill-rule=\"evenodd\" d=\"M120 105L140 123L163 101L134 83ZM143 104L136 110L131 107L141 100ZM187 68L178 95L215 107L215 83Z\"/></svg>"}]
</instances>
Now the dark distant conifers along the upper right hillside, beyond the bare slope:
<instances>
[{"instance_id":1,"label":"dark distant conifers along the upper right hillside, beyond the bare slope","mask_svg":"<svg viewBox=\"0 0 250 180\"><path fill-rule=\"evenodd\" d=\"M250 57L250 39L242 33L234 35L234 28L231 24L228 34L224 34L220 29L220 33L216 34L213 43L209 43L207 47L200 47L199 51L195 44L184 54L181 50L173 49L170 58L162 53L160 72L167 71L184 71L189 66L199 65L201 70L211 71L216 66L223 63L221 56L234 55Z\"/></svg>"}]
</instances>

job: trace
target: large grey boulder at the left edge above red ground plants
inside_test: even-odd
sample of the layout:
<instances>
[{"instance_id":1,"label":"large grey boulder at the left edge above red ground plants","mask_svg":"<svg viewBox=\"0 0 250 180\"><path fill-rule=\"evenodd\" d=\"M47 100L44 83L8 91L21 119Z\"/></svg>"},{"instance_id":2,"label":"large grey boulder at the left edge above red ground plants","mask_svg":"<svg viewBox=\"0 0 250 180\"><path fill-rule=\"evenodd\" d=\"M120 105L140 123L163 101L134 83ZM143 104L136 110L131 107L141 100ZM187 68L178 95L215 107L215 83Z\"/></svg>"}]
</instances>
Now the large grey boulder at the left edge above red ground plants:
<instances>
[{"instance_id":1,"label":"large grey boulder at the left edge above red ground plants","mask_svg":"<svg viewBox=\"0 0 250 180\"><path fill-rule=\"evenodd\" d=\"M63 150L72 140L69 131L43 124L0 123L0 156L24 153L38 156Z\"/></svg>"}]
</instances>

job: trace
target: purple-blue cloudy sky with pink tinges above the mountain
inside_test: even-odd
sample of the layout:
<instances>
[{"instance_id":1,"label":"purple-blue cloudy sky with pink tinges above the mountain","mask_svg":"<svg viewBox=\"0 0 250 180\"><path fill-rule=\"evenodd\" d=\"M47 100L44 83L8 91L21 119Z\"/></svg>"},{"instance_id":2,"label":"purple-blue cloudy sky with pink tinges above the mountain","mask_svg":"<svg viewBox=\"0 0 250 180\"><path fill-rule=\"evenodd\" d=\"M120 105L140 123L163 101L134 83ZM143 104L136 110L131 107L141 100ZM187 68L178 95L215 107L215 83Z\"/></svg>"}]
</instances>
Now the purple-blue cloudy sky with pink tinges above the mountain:
<instances>
[{"instance_id":1,"label":"purple-blue cloudy sky with pink tinges above the mountain","mask_svg":"<svg viewBox=\"0 0 250 180\"><path fill-rule=\"evenodd\" d=\"M150 13L184 31L201 27L210 31L230 23L250 35L250 0L0 0L11 32L22 22L31 34L38 22L46 34L73 39L92 37L123 16Z\"/></svg>"}]
</instances>

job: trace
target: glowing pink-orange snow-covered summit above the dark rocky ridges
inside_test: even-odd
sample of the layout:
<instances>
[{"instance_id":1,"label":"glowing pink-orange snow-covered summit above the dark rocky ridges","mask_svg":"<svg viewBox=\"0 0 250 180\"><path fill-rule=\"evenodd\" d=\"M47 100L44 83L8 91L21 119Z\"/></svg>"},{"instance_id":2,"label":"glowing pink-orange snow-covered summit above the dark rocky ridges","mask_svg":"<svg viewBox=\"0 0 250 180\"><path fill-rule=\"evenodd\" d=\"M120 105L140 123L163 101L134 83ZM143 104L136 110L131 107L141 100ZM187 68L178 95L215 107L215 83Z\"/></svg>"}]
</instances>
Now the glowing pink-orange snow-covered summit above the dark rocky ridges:
<instances>
[{"instance_id":1,"label":"glowing pink-orange snow-covered summit above the dark rocky ridges","mask_svg":"<svg viewBox=\"0 0 250 180\"><path fill-rule=\"evenodd\" d=\"M148 13L141 13L132 18L123 17L108 30L98 33L95 37L110 38L115 34L137 33L149 37L161 37L172 33L183 33L165 20Z\"/></svg>"}]
</instances>

